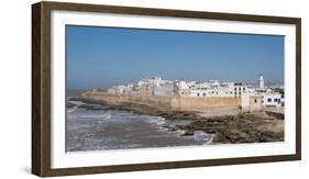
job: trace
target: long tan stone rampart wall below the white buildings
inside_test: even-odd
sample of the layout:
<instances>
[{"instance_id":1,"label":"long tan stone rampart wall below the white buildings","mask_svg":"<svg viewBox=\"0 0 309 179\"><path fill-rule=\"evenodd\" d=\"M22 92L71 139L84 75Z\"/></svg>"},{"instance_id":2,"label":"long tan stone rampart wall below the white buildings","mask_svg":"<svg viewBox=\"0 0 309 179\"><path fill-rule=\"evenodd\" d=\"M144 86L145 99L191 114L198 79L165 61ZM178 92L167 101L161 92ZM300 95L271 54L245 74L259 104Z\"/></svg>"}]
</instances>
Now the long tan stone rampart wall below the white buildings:
<instances>
[{"instance_id":1,"label":"long tan stone rampart wall below the white buildings","mask_svg":"<svg viewBox=\"0 0 309 179\"><path fill-rule=\"evenodd\" d=\"M158 110L173 111L203 111L211 108L224 108L241 105L241 98L234 97L155 97L136 94L110 94L104 92L82 92L81 98L106 102L110 105L141 104Z\"/></svg>"}]
</instances>

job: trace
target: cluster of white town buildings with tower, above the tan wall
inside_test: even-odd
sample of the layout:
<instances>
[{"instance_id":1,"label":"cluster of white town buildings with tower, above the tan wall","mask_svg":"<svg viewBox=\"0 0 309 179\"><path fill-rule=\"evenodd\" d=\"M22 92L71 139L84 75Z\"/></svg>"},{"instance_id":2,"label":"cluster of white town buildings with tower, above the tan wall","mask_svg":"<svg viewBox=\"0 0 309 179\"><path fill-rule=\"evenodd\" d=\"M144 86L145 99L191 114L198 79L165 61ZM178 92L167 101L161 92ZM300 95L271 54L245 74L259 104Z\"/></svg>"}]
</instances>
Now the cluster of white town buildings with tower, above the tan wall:
<instances>
[{"instance_id":1,"label":"cluster of white town buildings with tower, above the tan wall","mask_svg":"<svg viewBox=\"0 0 309 179\"><path fill-rule=\"evenodd\" d=\"M258 77L258 86L243 82L220 82L210 80L207 82L187 80L164 80L161 77L143 79L136 83L121 85L107 89L111 94L139 94L155 97L192 97L192 98L241 98L242 108L284 107L284 87L265 87L262 75Z\"/></svg>"}]
</instances>

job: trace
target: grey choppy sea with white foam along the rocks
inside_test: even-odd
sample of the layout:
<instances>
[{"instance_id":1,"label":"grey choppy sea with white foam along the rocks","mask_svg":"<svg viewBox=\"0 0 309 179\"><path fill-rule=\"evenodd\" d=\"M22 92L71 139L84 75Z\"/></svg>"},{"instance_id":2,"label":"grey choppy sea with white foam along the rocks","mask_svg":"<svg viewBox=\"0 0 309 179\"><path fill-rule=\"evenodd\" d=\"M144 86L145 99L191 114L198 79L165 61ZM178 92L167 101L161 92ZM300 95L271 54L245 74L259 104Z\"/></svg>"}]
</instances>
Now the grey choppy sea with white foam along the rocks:
<instances>
[{"instance_id":1,"label":"grey choppy sea with white foam along the rocks","mask_svg":"<svg viewBox=\"0 0 309 179\"><path fill-rule=\"evenodd\" d=\"M153 147L206 145L211 135L196 131L186 135L177 125L190 120L168 120L162 116L110 110L101 104L70 100L66 119L66 150L108 150ZM101 105L89 110L89 105ZM86 107L86 108L85 108Z\"/></svg>"}]
</instances>

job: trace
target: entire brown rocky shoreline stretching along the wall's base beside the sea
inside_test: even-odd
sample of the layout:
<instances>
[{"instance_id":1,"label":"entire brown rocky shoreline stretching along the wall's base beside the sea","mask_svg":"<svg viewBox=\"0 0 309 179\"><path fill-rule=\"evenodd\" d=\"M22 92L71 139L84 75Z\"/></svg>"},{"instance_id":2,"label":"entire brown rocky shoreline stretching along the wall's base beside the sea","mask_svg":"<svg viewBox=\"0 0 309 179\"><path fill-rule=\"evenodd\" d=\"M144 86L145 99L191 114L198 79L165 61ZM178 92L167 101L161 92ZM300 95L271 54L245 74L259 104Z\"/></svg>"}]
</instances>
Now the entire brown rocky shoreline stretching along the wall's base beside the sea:
<instances>
[{"instance_id":1,"label":"entire brown rocky shoreline stretching along the wall's base beside the sea","mask_svg":"<svg viewBox=\"0 0 309 179\"><path fill-rule=\"evenodd\" d=\"M79 107L87 110L125 110L139 114L162 116L169 120L194 120L187 125L165 127L169 131L183 130L185 131L184 135L194 135L195 131L203 131L213 135L213 144L284 141L284 118L282 115L269 115L266 112L203 116L199 112L194 111L168 111L132 103L106 105L106 103L102 101L93 101L80 98L71 100L92 103L93 105ZM68 105L74 104L68 103Z\"/></svg>"}]
</instances>

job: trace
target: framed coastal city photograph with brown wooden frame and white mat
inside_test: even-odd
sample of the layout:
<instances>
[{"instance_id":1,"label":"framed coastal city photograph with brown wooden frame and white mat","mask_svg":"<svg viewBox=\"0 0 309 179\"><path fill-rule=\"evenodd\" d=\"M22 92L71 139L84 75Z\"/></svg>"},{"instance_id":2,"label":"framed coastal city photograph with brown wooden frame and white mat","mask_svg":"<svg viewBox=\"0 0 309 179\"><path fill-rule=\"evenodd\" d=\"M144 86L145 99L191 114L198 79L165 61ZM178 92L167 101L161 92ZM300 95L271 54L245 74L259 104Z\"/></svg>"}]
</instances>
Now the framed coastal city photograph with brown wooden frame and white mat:
<instances>
[{"instance_id":1,"label":"framed coastal city photograph with brown wooden frame and white mat","mask_svg":"<svg viewBox=\"0 0 309 179\"><path fill-rule=\"evenodd\" d=\"M32 5L32 172L299 160L298 18Z\"/></svg>"}]
</instances>

